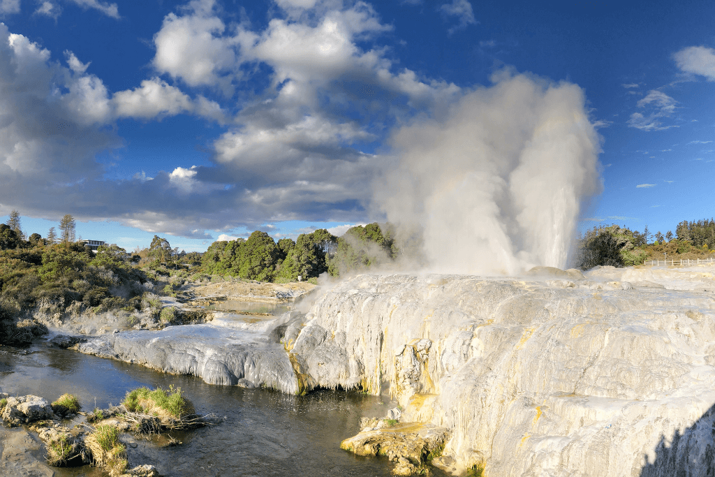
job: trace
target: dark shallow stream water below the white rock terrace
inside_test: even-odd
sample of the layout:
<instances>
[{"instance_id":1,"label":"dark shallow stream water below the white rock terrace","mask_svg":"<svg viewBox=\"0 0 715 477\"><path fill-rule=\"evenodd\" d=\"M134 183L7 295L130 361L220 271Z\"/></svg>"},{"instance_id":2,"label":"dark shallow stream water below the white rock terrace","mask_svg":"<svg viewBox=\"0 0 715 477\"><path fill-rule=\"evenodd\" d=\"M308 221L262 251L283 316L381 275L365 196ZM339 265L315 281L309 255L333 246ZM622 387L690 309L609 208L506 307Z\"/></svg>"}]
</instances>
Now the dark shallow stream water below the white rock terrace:
<instances>
[{"instance_id":1,"label":"dark shallow stream water below the white rock terrace","mask_svg":"<svg viewBox=\"0 0 715 477\"><path fill-rule=\"evenodd\" d=\"M0 388L11 395L54 400L77 395L84 410L117 404L141 385L182 388L197 413L216 413L217 426L175 434L180 446L136 441L129 464L151 463L162 476L390 476L386 458L362 458L340 449L358 433L362 415L385 415L390 403L375 396L324 390L294 396L264 389L208 385L192 376L158 373L39 343L0 348ZM71 426L71 424L70 424ZM104 475L97 468L58 468L57 477ZM442 476L436 471L433 476Z\"/></svg>"}]
</instances>

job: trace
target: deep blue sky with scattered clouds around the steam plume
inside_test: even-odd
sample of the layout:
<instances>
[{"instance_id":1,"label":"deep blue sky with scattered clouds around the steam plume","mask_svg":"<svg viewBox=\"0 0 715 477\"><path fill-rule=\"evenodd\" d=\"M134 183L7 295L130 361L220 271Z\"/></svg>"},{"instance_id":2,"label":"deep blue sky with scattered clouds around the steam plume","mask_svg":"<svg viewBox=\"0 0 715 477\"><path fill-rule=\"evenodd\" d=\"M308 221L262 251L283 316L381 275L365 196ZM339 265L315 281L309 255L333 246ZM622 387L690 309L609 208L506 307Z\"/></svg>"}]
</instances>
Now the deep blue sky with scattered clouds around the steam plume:
<instances>
[{"instance_id":1,"label":"deep blue sky with scattered clouds around the steam plume","mask_svg":"<svg viewBox=\"0 0 715 477\"><path fill-rule=\"evenodd\" d=\"M714 18L706 1L0 0L0 214L187 251L380 220L395 131L508 69L583 89L603 189L581 227L665 233L714 215Z\"/></svg>"}]
</instances>

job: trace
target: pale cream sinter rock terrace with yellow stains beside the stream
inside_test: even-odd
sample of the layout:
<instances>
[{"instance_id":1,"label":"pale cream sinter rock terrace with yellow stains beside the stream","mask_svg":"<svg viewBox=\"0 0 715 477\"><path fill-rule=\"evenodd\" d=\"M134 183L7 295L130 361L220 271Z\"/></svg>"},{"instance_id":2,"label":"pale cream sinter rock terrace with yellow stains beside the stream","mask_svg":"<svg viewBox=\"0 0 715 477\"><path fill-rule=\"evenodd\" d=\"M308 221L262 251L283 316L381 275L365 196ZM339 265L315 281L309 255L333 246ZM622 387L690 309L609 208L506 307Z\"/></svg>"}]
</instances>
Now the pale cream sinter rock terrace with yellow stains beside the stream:
<instances>
[{"instance_id":1,"label":"pale cream sinter rock terrace with yellow stains beside the stream","mask_svg":"<svg viewBox=\"0 0 715 477\"><path fill-rule=\"evenodd\" d=\"M454 473L711 475L712 271L358 275L270 334L194 325L196 339L172 327L77 346L213 383L389 393L401 422L448 429Z\"/></svg>"}]
</instances>

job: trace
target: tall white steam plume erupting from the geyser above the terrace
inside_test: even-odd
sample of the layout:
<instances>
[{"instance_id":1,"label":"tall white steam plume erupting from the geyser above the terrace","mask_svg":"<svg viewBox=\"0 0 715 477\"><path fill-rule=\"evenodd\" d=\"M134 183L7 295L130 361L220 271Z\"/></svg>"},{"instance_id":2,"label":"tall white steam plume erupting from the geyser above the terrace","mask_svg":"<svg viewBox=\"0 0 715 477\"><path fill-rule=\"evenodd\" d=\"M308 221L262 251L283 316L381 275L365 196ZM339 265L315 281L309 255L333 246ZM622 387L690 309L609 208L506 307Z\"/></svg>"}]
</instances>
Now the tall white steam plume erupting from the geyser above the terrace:
<instances>
[{"instance_id":1,"label":"tall white steam plume erupting from the geyser above the terrace","mask_svg":"<svg viewBox=\"0 0 715 477\"><path fill-rule=\"evenodd\" d=\"M582 202L601 188L583 91L510 72L493 82L400 129L375 200L401 230L421 230L432 270L563 268Z\"/></svg>"}]
</instances>

